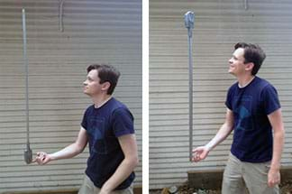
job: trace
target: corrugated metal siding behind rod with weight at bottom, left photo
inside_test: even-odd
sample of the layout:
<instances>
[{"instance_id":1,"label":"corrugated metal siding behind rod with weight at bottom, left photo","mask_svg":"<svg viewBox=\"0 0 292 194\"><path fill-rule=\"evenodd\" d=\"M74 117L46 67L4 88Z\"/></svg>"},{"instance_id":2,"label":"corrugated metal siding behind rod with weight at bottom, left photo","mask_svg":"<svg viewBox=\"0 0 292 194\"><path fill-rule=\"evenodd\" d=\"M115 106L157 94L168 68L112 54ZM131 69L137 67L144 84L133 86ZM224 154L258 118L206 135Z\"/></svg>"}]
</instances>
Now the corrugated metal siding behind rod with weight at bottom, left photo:
<instances>
[{"instance_id":1,"label":"corrugated metal siding behind rod with weight at bottom, left photo","mask_svg":"<svg viewBox=\"0 0 292 194\"><path fill-rule=\"evenodd\" d=\"M0 193L79 188L88 151L50 165L26 165L22 7L26 9L32 151L56 152L78 135L92 104L82 92L86 68L106 62L122 77L114 96L135 117L141 158L141 1L0 2ZM135 184L141 184L141 163Z\"/></svg>"}]
</instances>

